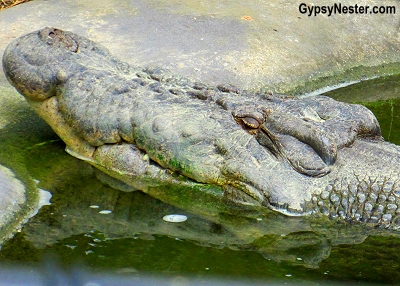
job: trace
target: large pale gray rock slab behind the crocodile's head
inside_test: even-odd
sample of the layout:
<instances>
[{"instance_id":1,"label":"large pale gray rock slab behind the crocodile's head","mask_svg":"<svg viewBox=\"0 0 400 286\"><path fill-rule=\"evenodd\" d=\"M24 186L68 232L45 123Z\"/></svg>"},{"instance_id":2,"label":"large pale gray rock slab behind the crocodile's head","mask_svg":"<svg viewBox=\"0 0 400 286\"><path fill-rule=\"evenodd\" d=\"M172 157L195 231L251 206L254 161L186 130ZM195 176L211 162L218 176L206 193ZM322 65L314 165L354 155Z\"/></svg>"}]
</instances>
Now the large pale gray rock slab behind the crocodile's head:
<instances>
[{"instance_id":1,"label":"large pale gray rock slab behind the crocodile's head","mask_svg":"<svg viewBox=\"0 0 400 286\"><path fill-rule=\"evenodd\" d=\"M399 70L398 1L358 3L394 6L392 15L310 17L300 3L35 0L0 13L0 53L13 38L51 26L86 36L133 65L246 89L301 92Z\"/></svg>"}]
</instances>

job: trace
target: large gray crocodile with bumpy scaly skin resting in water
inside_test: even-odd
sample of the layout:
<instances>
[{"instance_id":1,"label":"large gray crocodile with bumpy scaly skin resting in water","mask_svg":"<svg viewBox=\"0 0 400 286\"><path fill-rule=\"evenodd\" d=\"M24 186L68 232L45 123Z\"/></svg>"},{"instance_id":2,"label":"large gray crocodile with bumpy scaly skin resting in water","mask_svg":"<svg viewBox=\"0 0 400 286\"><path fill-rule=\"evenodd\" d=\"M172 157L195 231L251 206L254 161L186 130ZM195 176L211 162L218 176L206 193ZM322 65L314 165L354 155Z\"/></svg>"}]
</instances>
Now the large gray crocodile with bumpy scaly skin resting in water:
<instances>
[{"instance_id":1,"label":"large gray crocodile with bumpy scaly skin resting in water","mask_svg":"<svg viewBox=\"0 0 400 286\"><path fill-rule=\"evenodd\" d=\"M400 225L400 148L360 105L131 67L53 28L10 43L3 67L70 154L131 190L179 186L289 215Z\"/></svg>"}]
</instances>

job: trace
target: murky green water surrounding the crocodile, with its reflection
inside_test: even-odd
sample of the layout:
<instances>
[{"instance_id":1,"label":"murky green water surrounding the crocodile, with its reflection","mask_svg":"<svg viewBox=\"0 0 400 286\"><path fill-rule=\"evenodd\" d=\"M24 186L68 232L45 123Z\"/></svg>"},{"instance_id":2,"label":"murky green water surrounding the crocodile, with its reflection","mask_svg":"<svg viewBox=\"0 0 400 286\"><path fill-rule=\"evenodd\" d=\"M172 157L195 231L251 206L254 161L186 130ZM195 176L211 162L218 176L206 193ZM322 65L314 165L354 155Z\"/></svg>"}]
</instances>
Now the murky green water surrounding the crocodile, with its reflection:
<instances>
[{"instance_id":1,"label":"murky green water surrounding the crocodile, with its reflection","mask_svg":"<svg viewBox=\"0 0 400 286\"><path fill-rule=\"evenodd\" d=\"M400 144L399 79L363 82L327 95L366 105L385 139ZM118 275L311 284L400 281L397 233L265 211L242 210L216 219L140 192L119 192L65 153L64 144L26 104L10 116L16 119L0 130L0 164L16 170L22 180L38 180L38 187L53 197L3 245L0 267L40 266L51 254L65 269L85 265ZM168 214L188 219L163 221Z\"/></svg>"}]
</instances>

